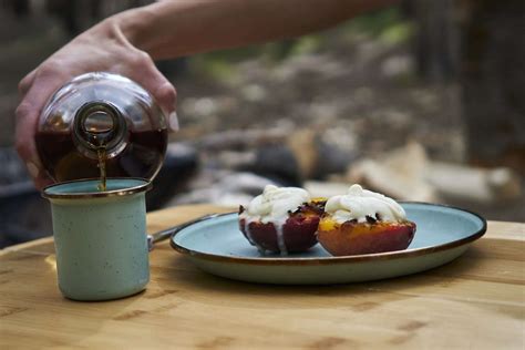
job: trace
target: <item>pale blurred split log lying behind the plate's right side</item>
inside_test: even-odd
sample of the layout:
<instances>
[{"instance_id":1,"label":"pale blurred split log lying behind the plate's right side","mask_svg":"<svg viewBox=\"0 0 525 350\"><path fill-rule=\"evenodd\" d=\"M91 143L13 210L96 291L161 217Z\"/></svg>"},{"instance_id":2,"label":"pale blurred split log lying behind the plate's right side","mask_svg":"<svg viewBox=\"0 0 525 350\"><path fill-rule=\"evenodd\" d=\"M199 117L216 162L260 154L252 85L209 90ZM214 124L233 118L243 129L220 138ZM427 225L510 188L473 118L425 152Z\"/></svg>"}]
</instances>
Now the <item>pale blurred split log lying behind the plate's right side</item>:
<instances>
[{"instance_id":1,"label":"pale blurred split log lying behind the plate's right side","mask_svg":"<svg viewBox=\"0 0 525 350\"><path fill-rule=\"evenodd\" d=\"M521 177L508 167L433 162L415 143L377 159L358 162L349 168L346 181L404 200L493 204L522 194Z\"/></svg>"}]
</instances>

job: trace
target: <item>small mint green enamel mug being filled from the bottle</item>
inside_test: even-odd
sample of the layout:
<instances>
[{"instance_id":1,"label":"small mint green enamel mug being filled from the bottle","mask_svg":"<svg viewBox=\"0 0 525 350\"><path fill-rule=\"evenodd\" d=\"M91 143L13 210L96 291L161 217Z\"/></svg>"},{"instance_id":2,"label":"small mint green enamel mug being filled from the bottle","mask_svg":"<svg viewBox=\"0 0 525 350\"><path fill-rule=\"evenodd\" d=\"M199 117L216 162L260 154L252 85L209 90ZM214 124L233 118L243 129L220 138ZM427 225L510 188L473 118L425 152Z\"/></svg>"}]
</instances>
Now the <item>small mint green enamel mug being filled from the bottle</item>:
<instances>
[{"instance_id":1,"label":"small mint green enamel mug being filled from the bottle","mask_svg":"<svg viewBox=\"0 0 525 350\"><path fill-rule=\"evenodd\" d=\"M61 292L74 300L110 300L144 290L150 281L145 194L151 183L109 178L44 188L51 202Z\"/></svg>"}]
</instances>

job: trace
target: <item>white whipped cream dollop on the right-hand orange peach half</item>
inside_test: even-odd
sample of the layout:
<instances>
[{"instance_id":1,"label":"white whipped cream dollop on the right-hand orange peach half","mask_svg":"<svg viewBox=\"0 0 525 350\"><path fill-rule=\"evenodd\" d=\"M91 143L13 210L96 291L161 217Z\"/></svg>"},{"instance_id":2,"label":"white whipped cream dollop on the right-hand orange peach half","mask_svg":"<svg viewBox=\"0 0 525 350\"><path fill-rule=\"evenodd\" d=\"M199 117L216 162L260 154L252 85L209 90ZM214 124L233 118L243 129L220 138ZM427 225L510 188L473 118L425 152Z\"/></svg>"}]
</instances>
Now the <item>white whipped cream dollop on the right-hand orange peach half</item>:
<instances>
[{"instance_id":1,"label":"white whipped cream dollop on the right-hand orange peach half","mask_svg":"<svg viewBox=\"0 0 525 350\"><path fill-rule=\"evenodd\" d=\"M367 216L383 222L406 219L404 209L394 199L363 189L360 185L350 186L346 195L330 197L325 212L339 224L353 219L364 223Z\"/></svg>"}]
</instances>

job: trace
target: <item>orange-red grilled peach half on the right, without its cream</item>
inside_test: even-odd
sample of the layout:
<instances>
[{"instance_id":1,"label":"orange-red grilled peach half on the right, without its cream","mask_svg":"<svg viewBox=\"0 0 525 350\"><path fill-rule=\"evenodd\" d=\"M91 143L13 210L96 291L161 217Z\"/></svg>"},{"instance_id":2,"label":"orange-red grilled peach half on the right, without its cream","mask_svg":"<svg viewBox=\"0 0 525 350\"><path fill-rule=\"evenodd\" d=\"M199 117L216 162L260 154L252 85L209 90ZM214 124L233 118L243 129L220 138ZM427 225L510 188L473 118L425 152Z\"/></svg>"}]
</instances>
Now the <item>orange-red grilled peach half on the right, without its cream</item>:
<instances>
[{"instance_id":1,"label":"orange-red grilled peach half on the right, without its cream","mask_svg":"<svg viewBox=\"0 0 525 350\"><path fill-rule=\"evenodd\" d=\"M380 222L367 217L366 223L339 224L326 216L319 223L317 239L331 255L348 256L403 250L414 234L415 224L409 220Z\"/></svg>"}]
</instances>

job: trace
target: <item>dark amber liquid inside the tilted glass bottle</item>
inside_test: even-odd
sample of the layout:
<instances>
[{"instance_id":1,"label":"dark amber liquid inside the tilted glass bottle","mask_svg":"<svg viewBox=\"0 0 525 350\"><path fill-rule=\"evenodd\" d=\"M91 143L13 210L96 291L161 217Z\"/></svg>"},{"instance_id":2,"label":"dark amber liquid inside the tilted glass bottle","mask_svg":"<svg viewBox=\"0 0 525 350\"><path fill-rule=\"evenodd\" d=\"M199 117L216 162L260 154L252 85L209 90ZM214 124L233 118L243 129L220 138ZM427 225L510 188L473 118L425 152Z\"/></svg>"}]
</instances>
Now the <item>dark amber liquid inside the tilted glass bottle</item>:
<instances>
[{"instance_id":1,"label":"dark amber liquid inside the tilted glass bottle","mask_svg":"<svg viewBox=\"0 0 525 350\"><path fill-rule=\"evenodd\" d=\"M151 178L162 164L166 152L165 128L127 133L126 147L113 157L105 150L93 158L81 154L69 132L38 132L35 142L42 162L49 164L48 172L56 182L100 178L103 188L105 176Z\"/></svg>"}]
</instances>

